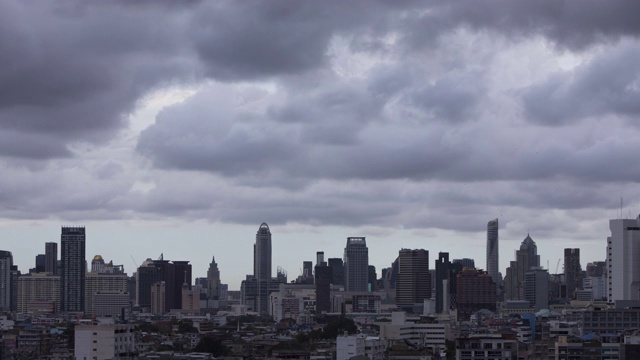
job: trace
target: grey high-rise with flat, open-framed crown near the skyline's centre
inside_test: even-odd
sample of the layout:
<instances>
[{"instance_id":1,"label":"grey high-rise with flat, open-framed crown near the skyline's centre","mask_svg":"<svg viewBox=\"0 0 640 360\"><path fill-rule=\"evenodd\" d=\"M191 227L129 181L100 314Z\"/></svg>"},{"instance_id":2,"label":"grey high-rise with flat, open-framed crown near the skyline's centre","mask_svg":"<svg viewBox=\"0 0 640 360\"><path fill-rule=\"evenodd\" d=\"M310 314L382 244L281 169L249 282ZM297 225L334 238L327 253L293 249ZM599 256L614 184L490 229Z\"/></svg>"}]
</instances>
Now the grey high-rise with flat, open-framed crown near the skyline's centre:
<instances>
[{"instance_id":1,"label":"grey high-rise with flat, open-framed crown near the skyline's centre","mask_svg":"<svg viewBox=\"0 0 640 360\"><path fill-rule=\"evenodd\" d=\"M369 249L363 237L348 237L344 248L344 284L346 291L367 291Z\"/></svg>"}]
</instances>

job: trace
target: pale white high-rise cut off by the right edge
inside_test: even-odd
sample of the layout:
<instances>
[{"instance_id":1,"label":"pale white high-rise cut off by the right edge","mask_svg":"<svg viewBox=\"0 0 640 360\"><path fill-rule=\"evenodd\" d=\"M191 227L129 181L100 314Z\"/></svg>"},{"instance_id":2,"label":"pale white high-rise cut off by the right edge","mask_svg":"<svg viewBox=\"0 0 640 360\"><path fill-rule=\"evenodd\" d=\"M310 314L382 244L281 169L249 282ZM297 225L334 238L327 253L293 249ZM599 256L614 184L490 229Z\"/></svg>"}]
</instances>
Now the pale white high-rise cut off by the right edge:
<instances>
[{"instance_id":1,"label":"pale white high-rise cut off by the right edge","mask_svg":"<svg viewBox=\"0 0 640 360\"><path fill-rule=\"evenodd\" d=\"M609 221L607 302L640 300L640 216Z\"/></svg>"}]
</instances>

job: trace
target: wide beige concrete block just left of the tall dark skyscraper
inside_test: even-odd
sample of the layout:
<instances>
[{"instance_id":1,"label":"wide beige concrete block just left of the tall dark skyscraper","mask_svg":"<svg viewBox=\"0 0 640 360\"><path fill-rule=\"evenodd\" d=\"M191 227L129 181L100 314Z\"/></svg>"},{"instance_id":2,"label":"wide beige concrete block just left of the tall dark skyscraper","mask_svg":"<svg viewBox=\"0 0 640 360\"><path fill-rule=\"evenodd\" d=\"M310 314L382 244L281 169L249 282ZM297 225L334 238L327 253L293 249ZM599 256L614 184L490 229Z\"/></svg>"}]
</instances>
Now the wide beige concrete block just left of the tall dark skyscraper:
<instances>
[{"instance_id":1,"label":"wide beige concrete block just left of the tall dark skyscraper","mask_svg":"<svg viewBox=\"0 0 640 360\"><path fill-rule=\"evenodd\" d=\"M60 276L50 273L39 273L20 276L18 278L18 313L29 311L59 312Z\"/></svg>"}]
</instances>

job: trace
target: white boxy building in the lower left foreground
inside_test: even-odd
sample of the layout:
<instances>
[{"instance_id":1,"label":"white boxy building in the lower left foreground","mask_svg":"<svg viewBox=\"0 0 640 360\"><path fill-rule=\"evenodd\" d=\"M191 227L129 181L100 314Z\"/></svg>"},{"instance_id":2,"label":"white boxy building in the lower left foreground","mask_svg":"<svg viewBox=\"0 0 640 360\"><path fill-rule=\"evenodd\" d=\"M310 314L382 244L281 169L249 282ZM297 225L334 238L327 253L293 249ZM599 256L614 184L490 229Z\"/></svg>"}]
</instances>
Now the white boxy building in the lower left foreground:
<instances>
[{"instance_id":1,"label":"white boxy building in the lower left foreground","mask_svg":"<svg viewBox=\"0 0 640 360\"><path fill-rule=\"evenodd\" d=\"M75 358L113 359L135 351L130 325L79 325L75 328Z\"/></svg>"}]
</instances>

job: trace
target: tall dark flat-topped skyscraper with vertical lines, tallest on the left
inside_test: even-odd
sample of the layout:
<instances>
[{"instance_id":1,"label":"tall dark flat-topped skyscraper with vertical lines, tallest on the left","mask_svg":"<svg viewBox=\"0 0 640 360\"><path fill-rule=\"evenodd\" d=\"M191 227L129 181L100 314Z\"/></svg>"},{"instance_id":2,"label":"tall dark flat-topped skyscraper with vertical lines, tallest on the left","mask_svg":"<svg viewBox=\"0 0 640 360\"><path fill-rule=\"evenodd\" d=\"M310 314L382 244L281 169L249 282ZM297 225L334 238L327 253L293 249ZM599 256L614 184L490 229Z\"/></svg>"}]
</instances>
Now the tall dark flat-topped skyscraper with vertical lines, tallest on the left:
<instances>
[{"instance_id":1,"label":"tall dark flat-topped skyscraper with vertical lines, tallest on the left","mask_svg":"<svg viewBox=\"0 0 640 360\"><path fill-rule=\"evenodd\" d=\"M60 240L62 311L84 311L86 273L84 226L63 226Z\"/></svg>"}]
</instances>

